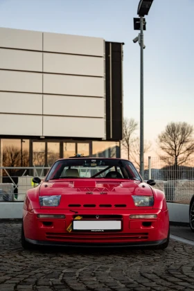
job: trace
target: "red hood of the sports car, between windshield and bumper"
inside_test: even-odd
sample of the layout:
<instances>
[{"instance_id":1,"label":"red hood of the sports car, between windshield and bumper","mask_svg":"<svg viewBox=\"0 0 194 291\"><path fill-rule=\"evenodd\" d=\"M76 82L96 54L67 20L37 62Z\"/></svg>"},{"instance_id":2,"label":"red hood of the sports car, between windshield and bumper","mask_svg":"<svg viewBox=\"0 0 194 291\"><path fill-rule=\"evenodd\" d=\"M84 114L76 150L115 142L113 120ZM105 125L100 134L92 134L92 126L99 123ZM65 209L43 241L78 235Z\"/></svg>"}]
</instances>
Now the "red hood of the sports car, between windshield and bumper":
<instances>
[{"instance_id":1,"label":"red hood of the sports car, between windshield and bumper","mask_svg":"<svg viewBox=\"0 0 194 291\"><path fill-rule=\"evenodd\" d=\"M137 209L132 195L152 196L152 188L139 181L51 180L43 182L39 195L61 195L58 209ZM51 209L51 206L42 206ZM53 207L52 207L53 208ZM152 209L152 206L146 208ZM145 209L145 206L143 207Z\"/></svg>"}]
</instances>

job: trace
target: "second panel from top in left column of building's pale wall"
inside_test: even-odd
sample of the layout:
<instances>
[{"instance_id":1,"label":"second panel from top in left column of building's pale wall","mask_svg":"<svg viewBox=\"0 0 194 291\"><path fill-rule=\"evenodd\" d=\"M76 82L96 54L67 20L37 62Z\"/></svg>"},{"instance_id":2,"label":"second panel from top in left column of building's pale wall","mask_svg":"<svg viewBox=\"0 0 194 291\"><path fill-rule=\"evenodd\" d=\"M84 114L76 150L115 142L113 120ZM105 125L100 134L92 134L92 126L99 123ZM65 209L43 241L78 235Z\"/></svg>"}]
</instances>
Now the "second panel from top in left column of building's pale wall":
<instances>
[{"instance_id":1,"label":"second panel from top in left column of building's pale wall","mask_svg":"<svg viewBox=\"0 0 194 291\"><path fill-rule=\"evenodd\" d=\"M42 72L42 53L0 48L0 69Z\"/></svg>"}]
</instances>

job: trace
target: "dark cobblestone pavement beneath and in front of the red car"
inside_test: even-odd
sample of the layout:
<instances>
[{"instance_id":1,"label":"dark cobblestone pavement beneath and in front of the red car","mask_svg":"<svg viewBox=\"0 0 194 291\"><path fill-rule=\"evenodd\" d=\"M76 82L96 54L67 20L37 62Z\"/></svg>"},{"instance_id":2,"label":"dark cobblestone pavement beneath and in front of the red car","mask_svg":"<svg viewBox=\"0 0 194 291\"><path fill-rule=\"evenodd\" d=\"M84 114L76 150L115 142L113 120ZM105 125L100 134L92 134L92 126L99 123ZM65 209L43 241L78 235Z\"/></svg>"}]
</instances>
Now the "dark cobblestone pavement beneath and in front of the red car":
<instances>
[{"instance_id":1,"label":"dark cobblestone pavement beneath and in front of the red car","mask_svg":"<svg viewBox=\"0 0 194 291\"><path fill-rule=\"evenodd\" d=\"M26 251L20 223L0 223L1 291L194 290L194 247Z\"/></svg>"}]
</instances>

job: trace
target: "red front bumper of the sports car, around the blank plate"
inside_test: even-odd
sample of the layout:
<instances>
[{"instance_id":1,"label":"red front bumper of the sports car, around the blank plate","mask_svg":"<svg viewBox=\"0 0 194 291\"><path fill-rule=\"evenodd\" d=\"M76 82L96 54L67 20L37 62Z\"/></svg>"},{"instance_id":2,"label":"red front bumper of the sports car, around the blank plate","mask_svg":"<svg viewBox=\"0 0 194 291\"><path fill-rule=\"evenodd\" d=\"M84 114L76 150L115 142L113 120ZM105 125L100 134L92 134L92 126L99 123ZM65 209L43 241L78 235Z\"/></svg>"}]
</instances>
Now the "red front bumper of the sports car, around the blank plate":
<instances>
[{"instance_id":1,"label":"red front bumper of the sports car, around the blank plate","mask_svg":"<svg viewBox=\"0 0 194 291\"><path fill-rule=\"evenodd\" d=\"M97 213L98 212L98 213ZM37 218L37 214L64 214L65 218ZM130 219L132 214L157 214L152 219ZM121 231L112 232L73 232L67 231L76 215L113 215L112 211L79 211L78 214L61 209L34 209L24 211L24 234L29 243L35 245L68 245L68 246L153 246L166 242L169 229L168 210L136 209L116 210L114 215L120 215ZM48 223L49 222L49 223ZM145 223L146 222L146 223ZM148 223L150 222L150 223Z\"/></svg>"}]
</instances>

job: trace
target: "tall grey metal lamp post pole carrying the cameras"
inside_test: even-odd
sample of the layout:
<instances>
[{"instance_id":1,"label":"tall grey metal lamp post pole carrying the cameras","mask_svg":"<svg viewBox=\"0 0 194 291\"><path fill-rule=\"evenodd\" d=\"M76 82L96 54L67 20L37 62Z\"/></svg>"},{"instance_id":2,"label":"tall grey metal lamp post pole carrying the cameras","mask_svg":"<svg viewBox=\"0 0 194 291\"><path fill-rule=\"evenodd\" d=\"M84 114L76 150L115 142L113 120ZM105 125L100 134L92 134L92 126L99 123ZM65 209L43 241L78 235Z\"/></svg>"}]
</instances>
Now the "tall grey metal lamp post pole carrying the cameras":
<instances>
[{"instance_id":1,"label":"tall grey metal lamp post pole carrying the cameras","mask_svg":"<svg viewBox=\"0 0 194 291\"><path fill-rule=\"evenodd\" d=\"M143 17L140 17L140 46L141 46L141 64L140 64L140 174L144 179L143 164Z\"/></svg>"}]
</instances>

